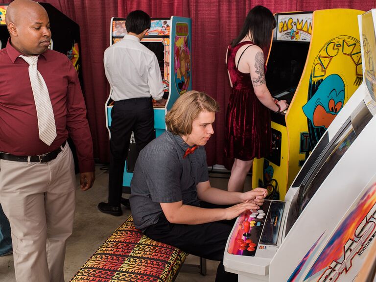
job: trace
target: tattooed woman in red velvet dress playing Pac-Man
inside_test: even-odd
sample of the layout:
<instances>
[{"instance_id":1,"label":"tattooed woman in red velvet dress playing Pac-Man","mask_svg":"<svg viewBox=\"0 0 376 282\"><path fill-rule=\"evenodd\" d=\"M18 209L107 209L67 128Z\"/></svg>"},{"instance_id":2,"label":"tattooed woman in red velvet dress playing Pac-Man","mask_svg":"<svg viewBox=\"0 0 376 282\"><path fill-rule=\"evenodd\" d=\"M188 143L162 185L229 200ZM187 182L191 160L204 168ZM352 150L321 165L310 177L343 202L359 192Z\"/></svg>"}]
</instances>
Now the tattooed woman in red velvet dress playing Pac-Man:
<instances>
[{"instance_id":1,"label":"tattooed woman in red velvet dress playing Pac-Man","mask_svg":"<svg viewBox=\"0 0 376 282\"><path fill-rule=\"evenodd\" d=\"M249 11L240 34L227 49L232 93L226 114L225 154L235 159L229 191L242 191L253 159L269 154L270 111L287 108L285 100L273 99L265 83L265 61L275 27L272 12L256 6Z\"/></svg>"}]
</instances>

